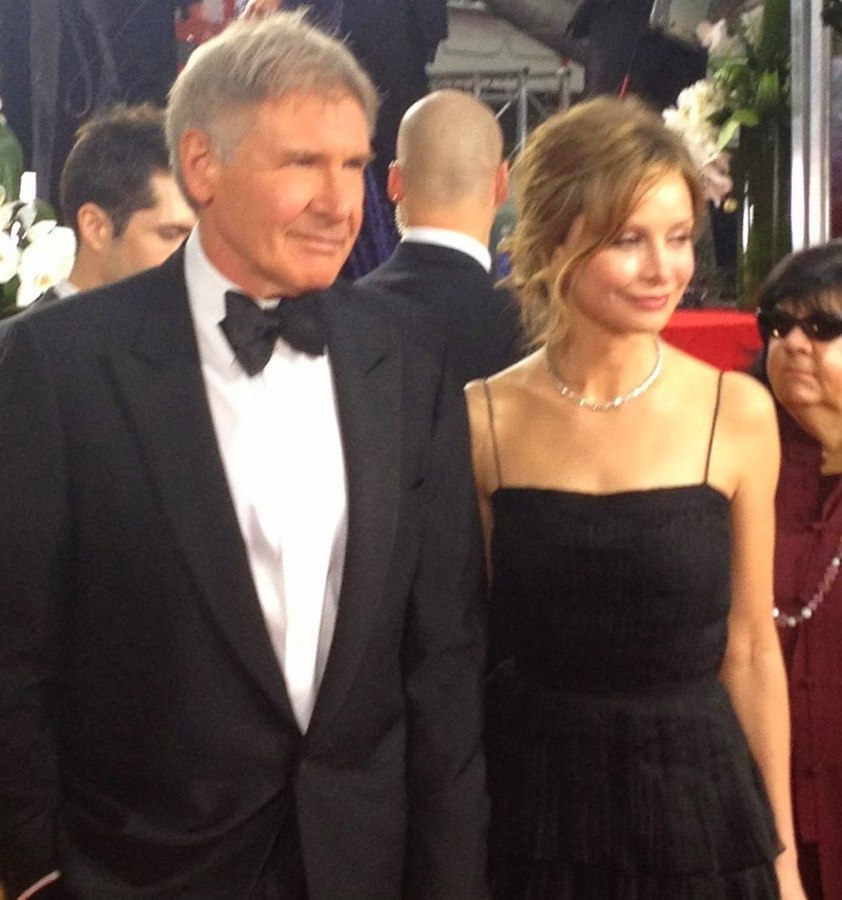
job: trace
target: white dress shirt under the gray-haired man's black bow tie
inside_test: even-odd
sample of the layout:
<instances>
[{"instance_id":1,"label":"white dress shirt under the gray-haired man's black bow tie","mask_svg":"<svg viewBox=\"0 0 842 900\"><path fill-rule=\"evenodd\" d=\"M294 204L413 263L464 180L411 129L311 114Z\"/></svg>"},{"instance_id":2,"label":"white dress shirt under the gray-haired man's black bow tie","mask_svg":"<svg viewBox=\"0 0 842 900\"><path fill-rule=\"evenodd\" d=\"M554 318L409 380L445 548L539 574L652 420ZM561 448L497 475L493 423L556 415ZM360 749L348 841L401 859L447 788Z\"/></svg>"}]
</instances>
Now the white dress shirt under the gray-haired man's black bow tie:
<instances>
[{"instance_id":1,"label":"white dress shirt under the gray-haired man's black bow tie","mask_svg":"<svg viewBox=\"0 0 842 900\"><path fill-rule=\"evenodd\" d=\"M266 368L249 378L219 327L225 292L237 286L208 260L198 227L185 245L185 275L228 486L266 628L303 732L333 638L347 538L330 360L279 340Z\"/></svg>"}]
</instances>

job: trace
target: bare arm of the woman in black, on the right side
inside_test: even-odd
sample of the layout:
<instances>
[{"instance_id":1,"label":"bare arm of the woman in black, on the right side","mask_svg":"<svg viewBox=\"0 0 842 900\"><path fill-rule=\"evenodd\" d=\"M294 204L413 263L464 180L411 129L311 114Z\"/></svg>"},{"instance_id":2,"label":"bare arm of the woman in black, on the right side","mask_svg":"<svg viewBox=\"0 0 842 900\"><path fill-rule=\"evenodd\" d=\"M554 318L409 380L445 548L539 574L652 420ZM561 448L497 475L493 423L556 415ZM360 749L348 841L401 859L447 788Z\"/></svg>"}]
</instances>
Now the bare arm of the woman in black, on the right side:
<instances>
[{"instance_id":1,"label":"bare arm of the woman in black, on the right side","mask_svg":"<svg viewBox=\"0 0 842 900\"><path fill-rule=\"evenodd\" d=\"M728 645L721 678L760 768L783 852L776 861L783 900L803 900L790 793L786 675L772 619L774 497L780 445L772 400L747 376L723 382L716 468L729 472L732 558Z\"/></svg>"}]
</instances>

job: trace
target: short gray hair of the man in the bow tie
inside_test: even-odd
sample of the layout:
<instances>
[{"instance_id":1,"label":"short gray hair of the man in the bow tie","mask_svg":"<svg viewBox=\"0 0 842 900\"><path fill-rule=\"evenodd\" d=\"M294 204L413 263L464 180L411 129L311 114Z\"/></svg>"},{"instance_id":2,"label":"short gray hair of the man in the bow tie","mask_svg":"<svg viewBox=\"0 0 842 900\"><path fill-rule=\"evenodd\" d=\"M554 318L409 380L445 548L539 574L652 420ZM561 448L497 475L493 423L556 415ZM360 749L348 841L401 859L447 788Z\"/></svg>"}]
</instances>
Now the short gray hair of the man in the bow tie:
<instances>
[{"instance_id":1,"label":"short gray hair of the man in the bow tie","mask_svg":"<svg viewBox=\"0 0 842 900\"><path fill-rule=\"evenodd\" d=\"M357 100L374 134L379 98L354 55L306 19L306 10L268 19L238 19L198 47L170 90L167 143L176 178L185 131L205 132L217 155L230 162L249 127L250 108L302 92Z\"/></svg>"}]
</instances>

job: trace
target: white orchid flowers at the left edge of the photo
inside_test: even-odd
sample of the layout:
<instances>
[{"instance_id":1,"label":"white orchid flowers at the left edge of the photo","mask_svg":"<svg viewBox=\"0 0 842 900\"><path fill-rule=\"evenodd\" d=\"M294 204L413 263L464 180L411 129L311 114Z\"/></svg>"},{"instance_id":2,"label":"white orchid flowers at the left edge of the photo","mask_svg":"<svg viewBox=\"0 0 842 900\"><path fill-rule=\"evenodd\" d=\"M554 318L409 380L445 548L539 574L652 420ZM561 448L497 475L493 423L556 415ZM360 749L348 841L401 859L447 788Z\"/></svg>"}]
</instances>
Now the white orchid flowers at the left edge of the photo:
<instances>
[{"instance_id":1,"label":"white orchid flowers at the left edge of the photo","mask_svg":"<svg viewBox=\"0 0 842 900\"><path fill-rule=\"evenodd\" d=\"M2 104L0 104L0 108ZM0 113L0 317L28 306L66 278L76 238L35 197L35 173L22 172L23 155ZM7 196L17 200L6 201Z\"/></svg>"}]
</instances>

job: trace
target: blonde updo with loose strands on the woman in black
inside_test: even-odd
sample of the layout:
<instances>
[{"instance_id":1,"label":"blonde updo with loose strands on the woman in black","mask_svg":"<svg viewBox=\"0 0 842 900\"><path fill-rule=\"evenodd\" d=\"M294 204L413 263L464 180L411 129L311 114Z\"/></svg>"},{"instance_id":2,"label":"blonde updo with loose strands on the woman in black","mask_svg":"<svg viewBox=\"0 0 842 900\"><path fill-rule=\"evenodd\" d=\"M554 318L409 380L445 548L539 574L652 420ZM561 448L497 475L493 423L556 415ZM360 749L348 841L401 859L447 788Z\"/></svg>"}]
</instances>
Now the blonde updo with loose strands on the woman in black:
<instances>
[{"instance_id":1,"label":"blonde updo with loose strands on the woman in black","mask_svg":"<svg viewBox=\"0 0 842 900\"><path fill-rule=\"evenodd\" d=\"M533 344L563 329L565 292L576 273L616 239L652 184L672 172L687 182L698 222L704 196L682 139L634 98L588 100L532 132L513 169L517 223L504 249L511 261L506 283ZM559 263L555 251L576 222L587 239Z\"/></svg>"}]
</instances>

